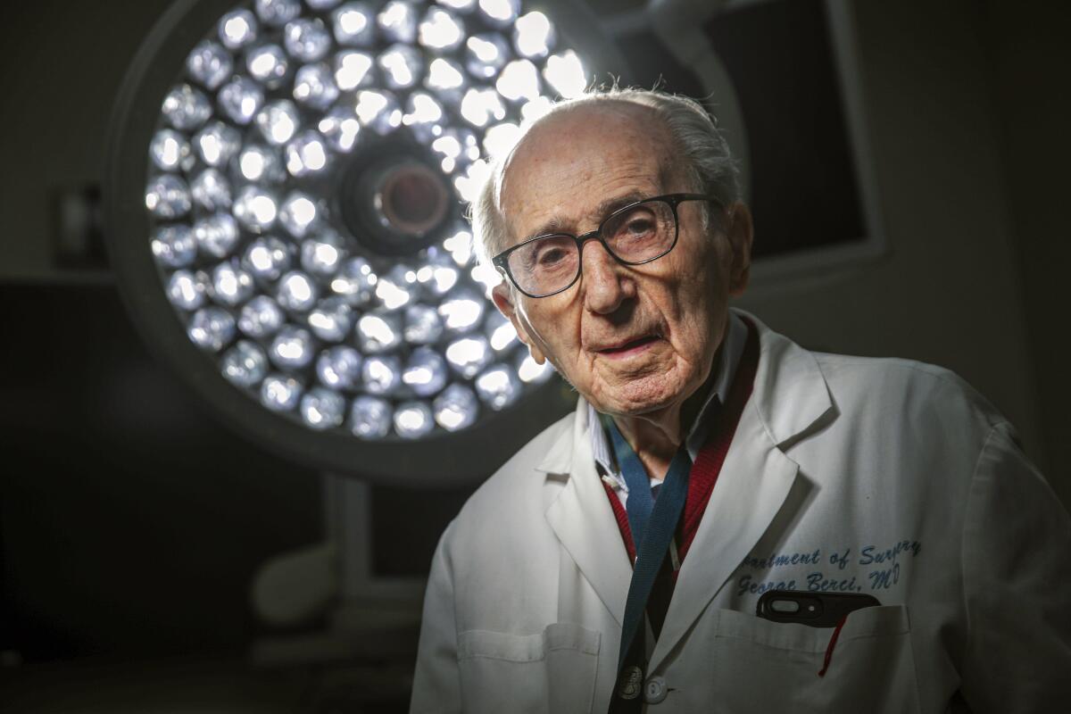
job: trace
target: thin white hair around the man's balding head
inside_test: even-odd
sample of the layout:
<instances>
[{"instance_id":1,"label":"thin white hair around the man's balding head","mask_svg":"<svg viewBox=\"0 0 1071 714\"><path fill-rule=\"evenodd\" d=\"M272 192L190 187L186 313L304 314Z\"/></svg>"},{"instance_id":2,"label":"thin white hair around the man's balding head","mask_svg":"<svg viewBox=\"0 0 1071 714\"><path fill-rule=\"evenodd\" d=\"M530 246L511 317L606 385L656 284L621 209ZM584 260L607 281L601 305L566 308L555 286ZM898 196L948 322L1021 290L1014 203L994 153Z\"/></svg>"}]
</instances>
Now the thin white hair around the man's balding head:
<instances>
[{"instance_id":1,"label":"thin white hair around the man's balding head","mask_svg":"<svg viewBox=\"0 0 1071 714\"><path fill-rule=\"evenodd\" d=\"M593 89L574 100L559 102L543 117L527 126L527 134L548 118L578 107L604 102L624 102L649 107L665 126L678 157L683 159L689 189L714 197L722 207L740 198L739 170L729 153L728 143L714 120L695 100L658 90ZM524 136L517 142L524 141ZM502 174L508 157L499 159L470 207L472 236L477 255L482 262L503 250L509 242L509 228L500 207ZM704 212L706 225L708 213Z\"/></svg>"}]
</instances>

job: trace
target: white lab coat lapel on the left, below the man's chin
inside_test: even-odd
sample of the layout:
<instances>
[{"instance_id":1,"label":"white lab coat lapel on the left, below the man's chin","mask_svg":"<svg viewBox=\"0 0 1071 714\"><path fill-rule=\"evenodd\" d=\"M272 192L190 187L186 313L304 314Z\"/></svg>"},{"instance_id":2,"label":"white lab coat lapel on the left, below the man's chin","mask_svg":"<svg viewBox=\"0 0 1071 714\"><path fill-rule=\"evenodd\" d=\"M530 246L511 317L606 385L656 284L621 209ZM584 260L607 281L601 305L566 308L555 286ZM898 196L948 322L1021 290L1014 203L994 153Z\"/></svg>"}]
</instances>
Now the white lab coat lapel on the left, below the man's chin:
<instances>
[{"instance_id":1,"label":"white lab coat lapel on the left, below the man's chin","mask_svg":"<svg viewBox=\"0 0 1071 714\"><path fill-rule=\"evenodd\" d=\"M565 551L620 624L632 566L618 534L614 511L595 472L587 416L587 404L580 400L573 432L563 434L539 467L548 474L568 474L569 477L564 488L547 507L546 519Z\"/></svg>"}]
</instances>

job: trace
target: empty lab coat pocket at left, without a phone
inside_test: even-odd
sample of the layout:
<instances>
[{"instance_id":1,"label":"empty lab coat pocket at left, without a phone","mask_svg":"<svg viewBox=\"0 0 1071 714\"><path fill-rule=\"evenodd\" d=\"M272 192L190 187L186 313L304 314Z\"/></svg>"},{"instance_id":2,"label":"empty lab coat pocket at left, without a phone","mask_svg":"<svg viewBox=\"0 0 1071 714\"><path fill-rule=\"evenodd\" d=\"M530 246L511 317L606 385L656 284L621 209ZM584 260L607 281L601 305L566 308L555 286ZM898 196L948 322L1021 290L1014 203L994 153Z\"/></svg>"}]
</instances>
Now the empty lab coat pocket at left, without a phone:
<instances>
[{"instance_id":1,"label":"empty lab coat pocket at left, without a phone","mask_svg":"<svg viewBox=\"0 0 1071 714\"><path fill-rule=\"evenodd\" d=\"M533 635L461 633L463 711L590 712L600 640L598 632L568 622Z\"/></svg>"}]
</instances>

